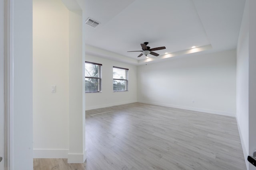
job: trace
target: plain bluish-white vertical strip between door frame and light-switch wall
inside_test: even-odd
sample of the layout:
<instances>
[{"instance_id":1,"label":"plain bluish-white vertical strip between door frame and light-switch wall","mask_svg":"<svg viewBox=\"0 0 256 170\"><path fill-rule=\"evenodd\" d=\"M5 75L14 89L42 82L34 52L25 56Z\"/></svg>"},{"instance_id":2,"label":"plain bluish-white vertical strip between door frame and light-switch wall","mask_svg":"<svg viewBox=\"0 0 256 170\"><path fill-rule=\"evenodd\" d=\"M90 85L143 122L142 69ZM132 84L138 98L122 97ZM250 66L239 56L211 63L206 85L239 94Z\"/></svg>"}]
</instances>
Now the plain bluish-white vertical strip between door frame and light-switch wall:
<instances>
[{"instance_id":1,"label":"plain bluish-white vertical strip between door frame and light-switch wall","mask_svg":"<svg viewBox=\"0 0 256 170\"><path fill-rule=\"evenodd\" d=\"M13 109L11 112L12 169L33 169L32 115L32 1L13 0L11 56L13 57ZM12 44L13 43L13 44ZM13 45L13 46L12 46ZM11 71L12 72L12 71ZM10 75L12 76L12 75Z\"/></svg>"}]
</instances>

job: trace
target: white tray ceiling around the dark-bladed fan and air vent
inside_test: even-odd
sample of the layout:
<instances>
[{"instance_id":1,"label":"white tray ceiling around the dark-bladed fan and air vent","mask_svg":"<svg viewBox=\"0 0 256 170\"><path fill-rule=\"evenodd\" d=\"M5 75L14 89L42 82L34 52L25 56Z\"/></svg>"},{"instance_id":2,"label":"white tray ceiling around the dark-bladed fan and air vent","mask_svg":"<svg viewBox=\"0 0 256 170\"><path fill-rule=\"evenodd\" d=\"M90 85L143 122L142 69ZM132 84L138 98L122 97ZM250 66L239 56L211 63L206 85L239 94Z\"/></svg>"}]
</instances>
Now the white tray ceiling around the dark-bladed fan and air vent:
<instances>
[{"instance_id":1,"label":"white tray ceiling around the dark-bladed fan and air vent","mask_svg":"<svg viewBox=\"0 0 256 170\"><path fill-rule=\"evenodd\" d=\"M86 0L86 53L143 63L140 43L149 42L160 60L194 51L223 51L237 45L245 0ZM164 55L164 53L171 53Z\"/></svg>"}]
</instances>

